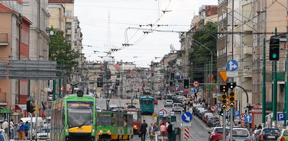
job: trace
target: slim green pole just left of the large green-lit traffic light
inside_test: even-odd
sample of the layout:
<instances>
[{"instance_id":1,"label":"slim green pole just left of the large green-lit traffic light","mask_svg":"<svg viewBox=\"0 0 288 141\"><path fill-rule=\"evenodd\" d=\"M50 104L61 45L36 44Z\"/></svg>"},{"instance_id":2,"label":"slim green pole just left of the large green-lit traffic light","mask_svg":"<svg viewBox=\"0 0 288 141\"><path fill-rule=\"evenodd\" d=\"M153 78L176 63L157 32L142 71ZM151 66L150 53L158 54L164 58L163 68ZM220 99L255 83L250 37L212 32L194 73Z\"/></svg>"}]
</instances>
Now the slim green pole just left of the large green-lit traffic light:
<instances>
[{"instance_id":1,"label":"slim green pole just left of the large green-lit traffic light","mask_svg":"<svg viewBox=\"0 0 288 141\"><path fill-rule=\"evenodd\" d=\"M263 38L263 84L262 84L262 127L265 127L266 117L266 39ZM285 88L286 90L286 88Z\"/></svg>"}]
</instances>

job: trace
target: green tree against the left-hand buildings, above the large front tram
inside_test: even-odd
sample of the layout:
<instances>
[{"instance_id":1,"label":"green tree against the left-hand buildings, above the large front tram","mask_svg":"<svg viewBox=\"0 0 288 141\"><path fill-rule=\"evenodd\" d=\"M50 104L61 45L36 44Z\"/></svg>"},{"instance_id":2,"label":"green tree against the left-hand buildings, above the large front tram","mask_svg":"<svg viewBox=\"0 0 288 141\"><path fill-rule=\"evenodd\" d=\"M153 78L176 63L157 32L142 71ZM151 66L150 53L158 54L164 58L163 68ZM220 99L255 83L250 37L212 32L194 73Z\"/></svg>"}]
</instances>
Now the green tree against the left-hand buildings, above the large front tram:
<instances>
[{"instance_id":1,"label":"green tree against the left-hand buildings, above the large front tram","mask_svg":"<svg viewBox=\"0 0 288 141\"><path fill-rule=\"evenodd\" d=\"M57 61L58 65L61 64L61 69L71 71L71 68L78 64L75 59L80 57L80 54L71 49L71 45L60 31L53 29L53 27L51 30L55 34L50 36L49 59L50 61Z\"/></svg>"}]
</instances>

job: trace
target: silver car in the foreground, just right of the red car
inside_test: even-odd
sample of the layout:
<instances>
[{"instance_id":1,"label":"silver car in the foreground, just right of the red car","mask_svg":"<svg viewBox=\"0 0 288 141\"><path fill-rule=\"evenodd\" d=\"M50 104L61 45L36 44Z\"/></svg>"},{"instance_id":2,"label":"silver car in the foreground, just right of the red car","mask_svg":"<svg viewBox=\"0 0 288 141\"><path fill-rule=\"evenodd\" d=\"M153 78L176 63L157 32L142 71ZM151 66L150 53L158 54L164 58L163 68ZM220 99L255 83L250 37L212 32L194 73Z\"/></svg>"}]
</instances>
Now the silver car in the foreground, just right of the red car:
<instances>
[{"instance_id":1,"label":"silver car in the foreground, just right of the red car","mask_svg":"<svg viewBox=\"0 0 288 141\"><path fill-rule=\"evenodd\" d=\"M233 140L252 140L252 137L247 128L233 128L232 133L228 133L226 140L230 140L231 134L233 135Z\"/></svg>"}]
</instances>

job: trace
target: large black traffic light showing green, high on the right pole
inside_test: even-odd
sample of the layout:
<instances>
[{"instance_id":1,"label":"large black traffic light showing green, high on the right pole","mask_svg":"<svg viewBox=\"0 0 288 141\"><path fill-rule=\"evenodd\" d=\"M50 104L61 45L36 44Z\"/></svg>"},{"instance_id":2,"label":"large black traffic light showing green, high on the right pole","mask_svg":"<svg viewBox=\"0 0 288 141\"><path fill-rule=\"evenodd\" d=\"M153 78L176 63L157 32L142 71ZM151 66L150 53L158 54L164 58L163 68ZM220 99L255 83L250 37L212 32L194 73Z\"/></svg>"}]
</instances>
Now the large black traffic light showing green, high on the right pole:
<instances>
[{"instance_id":1,"label":"large black traffic light showing green, high on the right pole","mask_svg":"<svg viewBox=\"0 0 288 141\"><path fill-rule=\"evenodd\" d=\"M270 38L269 44L269 60L279 61L280 38Z\"/></svg>"}]
</instances>

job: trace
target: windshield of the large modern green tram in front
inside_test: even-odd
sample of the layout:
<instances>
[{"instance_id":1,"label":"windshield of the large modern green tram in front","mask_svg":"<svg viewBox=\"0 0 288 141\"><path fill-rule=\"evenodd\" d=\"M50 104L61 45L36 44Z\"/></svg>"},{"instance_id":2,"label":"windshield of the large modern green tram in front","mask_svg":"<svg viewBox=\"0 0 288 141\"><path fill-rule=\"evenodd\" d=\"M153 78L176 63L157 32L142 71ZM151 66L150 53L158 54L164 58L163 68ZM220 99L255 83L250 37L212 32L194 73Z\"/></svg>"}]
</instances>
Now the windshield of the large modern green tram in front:
<instances>
[{"instance_id":1,"label":"windshield of the large modern green tram in front","mask_svg":"<svg viewBox=\"0 0 288 141\"><path fill-rule=\"evenodd\" d=\"M92 124L92 102L68 101L68 125L72 127L82 127Z\"/></svg>"}]
</instances>

